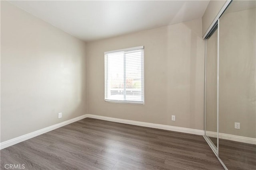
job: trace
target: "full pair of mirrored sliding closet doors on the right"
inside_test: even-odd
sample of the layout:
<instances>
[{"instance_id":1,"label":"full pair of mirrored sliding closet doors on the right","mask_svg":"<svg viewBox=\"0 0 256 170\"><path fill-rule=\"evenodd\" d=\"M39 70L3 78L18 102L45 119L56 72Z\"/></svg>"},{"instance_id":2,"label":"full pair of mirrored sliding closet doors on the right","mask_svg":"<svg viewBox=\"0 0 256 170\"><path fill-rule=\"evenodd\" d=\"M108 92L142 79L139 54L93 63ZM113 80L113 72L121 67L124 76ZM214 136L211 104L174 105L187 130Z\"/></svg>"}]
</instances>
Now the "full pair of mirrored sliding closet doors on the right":
<instances>
[{"instance_id":1,"label":"full pair of mirrored sliding closet doors on the right","mask_svg":"<svg viewBox=\"0 0 256 170\"><path fill-rule=\"evenodd\" d=\"M256 170L256 1L231 1L206 35L205 135L225 169Z\"/></svg>"}]
</instances>

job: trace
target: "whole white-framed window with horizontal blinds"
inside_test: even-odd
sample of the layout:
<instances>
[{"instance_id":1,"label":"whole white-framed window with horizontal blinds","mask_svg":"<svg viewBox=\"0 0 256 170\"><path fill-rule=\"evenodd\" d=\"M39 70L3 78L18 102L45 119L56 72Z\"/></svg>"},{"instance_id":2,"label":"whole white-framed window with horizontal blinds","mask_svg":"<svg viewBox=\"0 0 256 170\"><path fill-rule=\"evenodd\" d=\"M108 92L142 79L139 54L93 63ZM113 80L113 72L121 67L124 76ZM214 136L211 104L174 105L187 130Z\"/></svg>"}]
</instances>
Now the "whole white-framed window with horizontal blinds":
<instances>
[{"instance_id":1,"label":"whole white-framed window with horizontal blinds","mask_svg":"<svg viewBox=\"0 0 256 170\"><path fill-rule=\"evenodd\" d=\"M144 104L144 46L104 54L105 101Z\"/></svg>"}]
</instances>

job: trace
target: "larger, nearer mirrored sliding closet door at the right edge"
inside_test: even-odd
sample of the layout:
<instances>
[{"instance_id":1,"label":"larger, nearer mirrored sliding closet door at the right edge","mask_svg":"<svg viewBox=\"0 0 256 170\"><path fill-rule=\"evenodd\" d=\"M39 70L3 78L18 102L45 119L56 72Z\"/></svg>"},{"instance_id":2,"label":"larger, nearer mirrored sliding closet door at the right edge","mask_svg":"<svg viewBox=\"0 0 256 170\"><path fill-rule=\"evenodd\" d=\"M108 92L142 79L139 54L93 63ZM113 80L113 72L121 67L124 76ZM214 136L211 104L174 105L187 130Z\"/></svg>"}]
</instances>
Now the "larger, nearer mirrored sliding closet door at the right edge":
<instances>
[{"instance_id":1,"label":"larger, nearer mirrored sliding closet door at the right edge","mask_svg":"<svg viewBox=\"0 0 256 170\"><path fill-rule=\"evenodd\" d=\"M220 17L219 157L230 170L256 169L255 6L233 1Z\"/></svg>"}]
</instances>

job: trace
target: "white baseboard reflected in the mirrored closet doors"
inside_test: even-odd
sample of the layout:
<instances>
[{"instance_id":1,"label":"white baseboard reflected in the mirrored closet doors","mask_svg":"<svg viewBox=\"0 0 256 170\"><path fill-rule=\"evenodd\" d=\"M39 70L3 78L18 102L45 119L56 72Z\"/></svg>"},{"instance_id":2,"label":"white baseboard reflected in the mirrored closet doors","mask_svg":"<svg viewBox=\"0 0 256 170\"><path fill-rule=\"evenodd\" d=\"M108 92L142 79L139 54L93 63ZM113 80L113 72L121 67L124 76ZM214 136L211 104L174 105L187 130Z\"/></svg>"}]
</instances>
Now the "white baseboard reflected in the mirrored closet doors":
<instances>
[{"instance_id":1,"label":"white baseboard reflected in the mirrored closet doors","mask_svg":"<svg viewBox=\"0 0 256 170\"><path fill-rule=\"evenodd\" d=\"M209 137L217 137L217 132L206 131L206 135ZM230 141L243 142L256 145L256 138L243 137L237 135L230 135L226 133L219 133L219 139L226 139Z\"/></svg>"}]
</instances>

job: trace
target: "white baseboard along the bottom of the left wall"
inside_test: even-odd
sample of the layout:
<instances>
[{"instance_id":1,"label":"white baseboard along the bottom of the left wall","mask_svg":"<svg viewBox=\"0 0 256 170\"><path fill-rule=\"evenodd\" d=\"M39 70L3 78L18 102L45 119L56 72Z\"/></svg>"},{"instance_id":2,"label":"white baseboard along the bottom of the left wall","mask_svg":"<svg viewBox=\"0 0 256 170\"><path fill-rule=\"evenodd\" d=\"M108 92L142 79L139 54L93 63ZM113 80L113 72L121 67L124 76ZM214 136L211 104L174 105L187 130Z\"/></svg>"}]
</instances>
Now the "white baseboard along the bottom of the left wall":
<instances>
[{"instance_id":1,"label":"white baseboard along the bottom of the left wall","mask_svg":"<svg viewBox=\"0 0 256 170\"><path fill-rule=\"evenodd\" d=\"M20 143L22 141L26 141L26 140L31 139L33 137L36 137L38 135L42 135L42 134L44 134L46 132L52 131L54 129L57 129L57 128L65 126L65 125L68 125L70 123L73 123L75 121L78 121L78 120L81 120L81 119L84 119L84 118L86 118L86 115L75 117L73 119L70 119L70 120L67 120L67 121L63 121L61 123L58 123L58 124L55 124L55 125L43 128L43 129L39 129L39 130L31 132L31 133L27 133L25 135L22 135L22 136L10 139L8 141L1 142L0 143L0 149L4 149L6 147L10 147L10 146L15 145L17 143Z\"/></svg>"}]
</instances>

